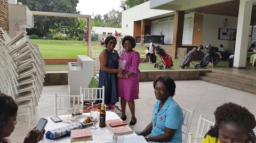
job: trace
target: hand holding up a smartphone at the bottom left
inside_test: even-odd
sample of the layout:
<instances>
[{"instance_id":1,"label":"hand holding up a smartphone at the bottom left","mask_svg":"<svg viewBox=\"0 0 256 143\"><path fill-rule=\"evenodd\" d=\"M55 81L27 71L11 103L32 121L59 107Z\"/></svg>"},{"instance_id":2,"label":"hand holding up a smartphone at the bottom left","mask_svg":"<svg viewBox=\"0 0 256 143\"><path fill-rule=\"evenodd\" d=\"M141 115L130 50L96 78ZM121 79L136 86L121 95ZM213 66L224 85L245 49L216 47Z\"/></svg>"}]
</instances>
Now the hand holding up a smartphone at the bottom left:
<instances>
[{"instance_id":1,"label":"hand holding up a smartphone at the bottom left","mask_svg":"<svg viewBox=\"0 0 256 143\"><path fill-rule=\"evenodd\" d=\"M43 131L45 132L45 130ZM40 141L44 137L44 133L42 131L38 131L35 128L28 132L26 138L23 143L36 143ZM43 137L42 137L43 134Z\"/></svg>"}]
</instances>

